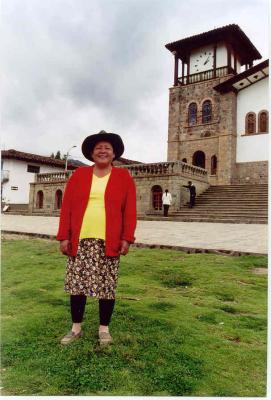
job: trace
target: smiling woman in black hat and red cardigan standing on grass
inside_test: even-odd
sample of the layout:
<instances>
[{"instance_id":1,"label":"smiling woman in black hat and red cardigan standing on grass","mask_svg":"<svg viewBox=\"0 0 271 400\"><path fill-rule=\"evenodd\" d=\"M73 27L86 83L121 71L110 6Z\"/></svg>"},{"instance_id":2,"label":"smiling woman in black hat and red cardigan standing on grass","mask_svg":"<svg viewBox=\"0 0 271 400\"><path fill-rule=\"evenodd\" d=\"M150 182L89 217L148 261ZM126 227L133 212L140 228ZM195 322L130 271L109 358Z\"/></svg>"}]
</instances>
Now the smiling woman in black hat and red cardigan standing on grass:
<instances>
[{"instance_id":1,"label":"smiling woman in black hat and red cardigan standing on grass","mask_svg":"<svg viewBox=\"0 0 271 400\"><path fill-rule=\"evenodd\" d=\"M73 322L61 343L81 337L86 298L92 296L99 299L99 341L108 344L119 258L135 240L136 191L128 170L112 166L124 152L119 135L90 135L82 152L94 165L80 167L70 177L57 234L60 250L68 256L65 291L70 293Z\"/></svg>"}]
</instances>

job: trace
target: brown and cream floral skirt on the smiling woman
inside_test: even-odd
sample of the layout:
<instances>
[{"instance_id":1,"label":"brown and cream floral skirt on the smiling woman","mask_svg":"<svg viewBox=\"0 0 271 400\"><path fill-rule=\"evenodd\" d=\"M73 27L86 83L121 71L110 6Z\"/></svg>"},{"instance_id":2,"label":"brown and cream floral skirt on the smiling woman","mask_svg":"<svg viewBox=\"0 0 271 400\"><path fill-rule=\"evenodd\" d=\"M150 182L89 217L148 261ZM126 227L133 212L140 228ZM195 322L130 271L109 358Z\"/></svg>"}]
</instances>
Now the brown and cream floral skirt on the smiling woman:
<instances>
[{"instance_id":1,"label":"brown and cream floral skirt on the smiling woman","mask_svg":"<svg viewBox=\"0 0 271 400\"><path fill-rule=\"evenodd\" d=\"M102 239L81 239L76 257L68 257L65 291L97 299L114 299L119 257L105 255Z\"/></svg>"}]
</instances>

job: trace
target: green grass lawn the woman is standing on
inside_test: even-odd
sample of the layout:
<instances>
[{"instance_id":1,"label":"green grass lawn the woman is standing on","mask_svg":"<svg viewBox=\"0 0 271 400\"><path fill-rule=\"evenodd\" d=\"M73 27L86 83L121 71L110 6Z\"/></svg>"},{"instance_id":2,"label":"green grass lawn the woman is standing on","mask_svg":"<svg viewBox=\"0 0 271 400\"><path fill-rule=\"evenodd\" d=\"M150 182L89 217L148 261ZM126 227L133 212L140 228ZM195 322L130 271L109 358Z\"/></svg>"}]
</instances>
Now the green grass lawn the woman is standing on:
<instances>
[{"instance_id":1,"label":"green grass lawn the woman is standing on","mask_svg":"<svg viewBox=\"0 0 271 400\"><path fill-rule=\"evenodd\" d=\"M2 248L3 395L265 396L267 257L131 249L102 349L94 299L84 337L59 344L70 315L58 244Z\"/></svg>"}]
</instances>

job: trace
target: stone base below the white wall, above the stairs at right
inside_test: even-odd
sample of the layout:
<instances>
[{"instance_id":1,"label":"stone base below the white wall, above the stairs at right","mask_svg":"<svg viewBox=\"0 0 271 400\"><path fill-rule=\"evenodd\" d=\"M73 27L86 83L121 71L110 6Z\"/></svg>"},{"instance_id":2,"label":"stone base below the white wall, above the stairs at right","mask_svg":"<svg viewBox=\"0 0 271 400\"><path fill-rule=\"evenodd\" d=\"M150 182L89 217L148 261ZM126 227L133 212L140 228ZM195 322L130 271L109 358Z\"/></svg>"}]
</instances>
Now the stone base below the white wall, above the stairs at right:
<instances>
[{"instance_id":1,"label":"stone base below the white wall, above the stairs at right","mask_svg":"<svg viewBox=\"0 0 271 400\"><path fill-rule=\"evenodd\" d=\"M236 164L236 177L233 183L238 184L267 184L268 161L255 161Z\"/></svg>"}]
</instances>

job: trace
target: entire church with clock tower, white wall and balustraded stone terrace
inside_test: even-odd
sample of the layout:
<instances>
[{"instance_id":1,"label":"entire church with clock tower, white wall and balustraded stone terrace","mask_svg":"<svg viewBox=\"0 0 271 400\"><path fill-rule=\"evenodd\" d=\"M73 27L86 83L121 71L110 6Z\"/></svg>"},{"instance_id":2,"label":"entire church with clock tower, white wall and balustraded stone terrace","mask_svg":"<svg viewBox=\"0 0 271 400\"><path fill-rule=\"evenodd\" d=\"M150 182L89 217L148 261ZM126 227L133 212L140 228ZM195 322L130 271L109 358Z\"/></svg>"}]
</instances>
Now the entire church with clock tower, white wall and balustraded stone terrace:
<instances>
[{"instance_id":1,"label":"entire church with clock tower, white wall and balustraded stone terrace","mask_svg":"<svg viewBox=\"0 0 271 400\"><path fill-rule=\"evenodd\" d=\"M183 188L188 180L197 194L210 185L267 183L268 60L253 66L261 55L237 25L181 39L166 48L174 55L168 161L126 160L120 165L135 179L139 216L161 213L165 189L173 197L171 211L180 210L188 201ZM37 210L35 196L42 188L48 193L63 191L66 180L65 174L37 175L31 184L30 211L57 214L52 194L43 210Z\"/></svg>"}]
</instances>

